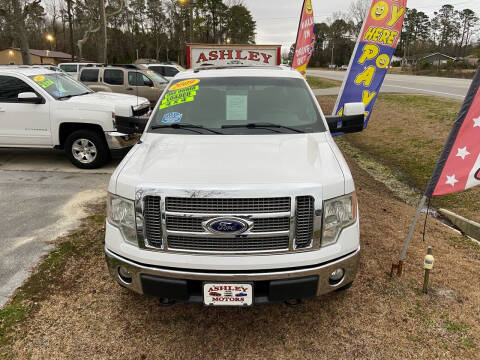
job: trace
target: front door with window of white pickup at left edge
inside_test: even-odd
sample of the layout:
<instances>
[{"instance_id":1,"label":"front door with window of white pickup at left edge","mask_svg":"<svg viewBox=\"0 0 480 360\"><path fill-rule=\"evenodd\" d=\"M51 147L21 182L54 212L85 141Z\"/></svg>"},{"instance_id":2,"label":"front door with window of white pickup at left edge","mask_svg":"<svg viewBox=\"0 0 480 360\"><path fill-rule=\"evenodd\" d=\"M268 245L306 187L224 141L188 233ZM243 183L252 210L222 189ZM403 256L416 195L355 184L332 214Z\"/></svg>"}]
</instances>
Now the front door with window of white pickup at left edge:
<instances>
[{"instance_id":1,"label":"front door with window of white pickup at left edge","mask_svg":"<svg viewBox=\"0 0 480 360\"><path fill-rule=\"evenodd\" d=\"M51 146L48 102L20 103L23 92L35 90L15 76L0 75L0 146Z\"/></svg>"}]
</instances>

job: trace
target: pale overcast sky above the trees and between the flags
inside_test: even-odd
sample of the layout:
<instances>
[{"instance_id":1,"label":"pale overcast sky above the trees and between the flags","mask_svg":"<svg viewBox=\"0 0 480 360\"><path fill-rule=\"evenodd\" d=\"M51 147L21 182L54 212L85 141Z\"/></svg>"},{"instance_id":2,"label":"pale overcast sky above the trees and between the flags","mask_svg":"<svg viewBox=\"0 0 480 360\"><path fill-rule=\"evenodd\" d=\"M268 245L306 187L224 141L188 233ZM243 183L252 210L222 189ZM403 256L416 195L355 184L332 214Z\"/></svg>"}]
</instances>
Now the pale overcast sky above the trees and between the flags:
<instances>
[{"instance_id":1,"label":"pale overcast sky above the trees and between the flags","mask_svg":"<svg viewBox=\"0 0 480 360\"><path fill-rule=\"evenodd\" d=\"M312 0L315 21L326 21L334 12L347 12L352 0ZM282 44L284 51L295 42L303 0L244 0L257 21L257 44ZM479 0L408 0L408 7L429 15L443 4L480 13Z\"/></svg>"}]
</instances>

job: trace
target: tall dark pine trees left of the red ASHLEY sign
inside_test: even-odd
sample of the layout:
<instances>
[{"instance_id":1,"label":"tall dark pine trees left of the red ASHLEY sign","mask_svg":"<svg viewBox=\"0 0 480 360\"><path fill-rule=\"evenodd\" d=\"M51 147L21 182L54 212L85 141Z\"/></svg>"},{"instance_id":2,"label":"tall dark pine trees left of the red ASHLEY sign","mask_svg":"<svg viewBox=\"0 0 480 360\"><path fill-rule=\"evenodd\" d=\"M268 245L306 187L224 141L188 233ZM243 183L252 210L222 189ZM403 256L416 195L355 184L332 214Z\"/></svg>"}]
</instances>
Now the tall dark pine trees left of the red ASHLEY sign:
<instances>
[{"instance_id":1,"label":"tall dark pine trees left of the red ASHLEY sign","mask_svg":"<svg viewBox=\"0 0 480 360\"><path fill-rule=\"evenodd\" d=\"M0 0L0 49L20 48L24 63L29 48L183 62L187 42L254 43L255 29L242 0Z\"/></svg>"}]
</instances>

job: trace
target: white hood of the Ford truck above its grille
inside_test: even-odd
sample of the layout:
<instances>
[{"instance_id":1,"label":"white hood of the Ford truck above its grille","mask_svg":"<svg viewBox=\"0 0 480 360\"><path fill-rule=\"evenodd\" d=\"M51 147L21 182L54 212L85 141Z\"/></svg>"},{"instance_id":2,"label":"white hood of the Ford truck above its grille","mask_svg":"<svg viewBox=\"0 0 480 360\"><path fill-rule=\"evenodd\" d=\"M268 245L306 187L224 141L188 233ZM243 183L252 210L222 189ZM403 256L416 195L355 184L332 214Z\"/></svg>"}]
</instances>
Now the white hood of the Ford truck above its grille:
<instances>
[{"instance_id":1,"label":"white hood of the Ford truck above its grille","mask_svg":"<svg viewBox=\"0 0 480 360\"><path fill-rule=\"evenodd\" d=\"M344 173L325 133L255 136L145 133L142 143L135 146L115 175L118 177L112 190L129 198L140 184L187 189L318 184L324 198L345 193Z\"/></svg>"}]
</instances>

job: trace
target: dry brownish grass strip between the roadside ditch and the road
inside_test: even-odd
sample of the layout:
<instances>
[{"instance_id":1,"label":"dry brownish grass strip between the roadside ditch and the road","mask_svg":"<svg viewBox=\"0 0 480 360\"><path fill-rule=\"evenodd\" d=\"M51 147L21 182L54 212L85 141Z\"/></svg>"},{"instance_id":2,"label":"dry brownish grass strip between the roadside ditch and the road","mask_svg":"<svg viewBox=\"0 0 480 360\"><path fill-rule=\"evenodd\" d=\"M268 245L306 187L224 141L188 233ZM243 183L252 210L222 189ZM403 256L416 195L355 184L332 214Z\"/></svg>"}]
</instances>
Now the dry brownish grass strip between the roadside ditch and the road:
<instances>
[{"instance_id":1,"label":"dry brownish grass strip between the roadside ditch and the road","mask_svg":"<svg viewBox=\"0 0 480 360\"><path fill-rule=\"evenodd\" d=\"M325 113L335 97L318 96ZM440 157L461 103L423 95L380 95L368 128L342 137L396 173L398 180L423 193ZM434 198L443 207L480 222L480 187Z\"/></svg>"}]
</instances>

